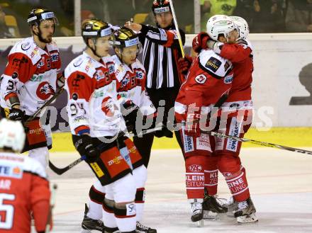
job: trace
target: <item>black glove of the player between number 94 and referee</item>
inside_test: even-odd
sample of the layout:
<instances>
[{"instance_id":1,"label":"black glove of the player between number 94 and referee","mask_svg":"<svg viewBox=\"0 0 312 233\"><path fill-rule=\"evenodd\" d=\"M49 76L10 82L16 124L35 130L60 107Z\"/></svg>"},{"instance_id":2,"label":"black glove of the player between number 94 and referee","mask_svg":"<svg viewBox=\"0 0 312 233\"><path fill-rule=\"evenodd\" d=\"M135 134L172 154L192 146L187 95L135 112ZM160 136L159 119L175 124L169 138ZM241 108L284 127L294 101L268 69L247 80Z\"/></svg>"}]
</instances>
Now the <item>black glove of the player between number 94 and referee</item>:
<instances>
[{"instance_id":1,"label":"black glove of the player between number 94 and referee","mask_svg":"<svg viewBox=\"0 0 312 233\"><path fill-rule=\"evenodd\" d=\"M133 132L136 134L135 121L137 119L138 113L140 114L140 108L132 101L127 101L126 103L123 103L123 109L121 110L121 113L125 119L128 132Z\"/></svg>"}]
</instances>

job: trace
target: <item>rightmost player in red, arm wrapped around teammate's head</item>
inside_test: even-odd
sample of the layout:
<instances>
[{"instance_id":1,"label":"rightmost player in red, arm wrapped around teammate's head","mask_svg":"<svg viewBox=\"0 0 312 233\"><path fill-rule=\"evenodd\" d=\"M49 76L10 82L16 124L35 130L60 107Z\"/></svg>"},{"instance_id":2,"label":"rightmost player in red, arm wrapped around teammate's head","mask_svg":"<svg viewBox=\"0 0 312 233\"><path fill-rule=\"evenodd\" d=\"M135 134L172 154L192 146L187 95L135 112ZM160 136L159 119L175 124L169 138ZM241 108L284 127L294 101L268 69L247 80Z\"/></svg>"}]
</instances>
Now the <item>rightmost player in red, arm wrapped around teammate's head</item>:
<instances>
[{"instance_id":1,"label":"rightmost player in red, arm wrapped around teammate's head","mask_svg":"<svg viewBox=\"0 0 312 233\"><path fill-rule=\"evenodd\" d=\"M223 111L230 111L233 113L230 114L230 118L228 119L228 124L230 126L228 126L225 131L219 130L219 132L223 132L228 135L239 135L240 137L243 137L243 135L249 129L252 121L251 83L253 71L253 54L252 46L249 40L247 40L247 35L249 33L249 27L247 22L243 18L238 16L230 16L230 19L236 25L238 25L239 28L240 37L238 38L238 40L235 41L235 43L229 43L226 40L223 40L222 42L218 41L218 38L216 37L216 35L213 35L213 33L211 33L211 30L210 33L208 31L209 35L206 33L200 33L199 35L197 35L196 38L194 38L193 48L195 52L200 52L201 49L208 47L209 49L216 52L218 55L221 55L221 57L229 59L231 62L233 62L234 78L232 83L232 89L229 92L226 102L223 103L222 106ZM247 120L243 128L240 127L239 132L235 132L235 130L233 130L233 127L234 125L238 124L238 113L245 115L245 118L247 118ZM205 182L206 188L208 190L208 195L206 195L204 200L204 210L211 210L213 212L219 212L220 210L223 210L222 206L218 205L218 203L220 202L218 202L218 198L216 197L218 186L218 166L223 169L222 164L218 164L218 154L221 154L221 156L225 158L235 157L233 161L236 160L239 166L234 166L233 169L237 173L240 173L238 171L239 168L242 174L245 174L246 172L245 168L240 164L240 160L238 158L241 142L235 142L233 140L221 138L216 138L216 140L218 140L218 144L220 145L231 144L231 147L233 148L228 149L228 147L216 147L216 152L213 154L212 157L209 157L208 168L205 171ZM220 168L219 171L221 171ZM233 198L230 198L230 200L232 200L230 201L232 205L228 206L229 211L235 208L235 217L237 217L239 223L257 221L257 217L255 216L255 207L249 197L249 192L247 191L248 189L246 189L245 192L242 192L241 194L233 193ZM235 195L240 197L235 198Z\"/></svg>"}]
</instances>

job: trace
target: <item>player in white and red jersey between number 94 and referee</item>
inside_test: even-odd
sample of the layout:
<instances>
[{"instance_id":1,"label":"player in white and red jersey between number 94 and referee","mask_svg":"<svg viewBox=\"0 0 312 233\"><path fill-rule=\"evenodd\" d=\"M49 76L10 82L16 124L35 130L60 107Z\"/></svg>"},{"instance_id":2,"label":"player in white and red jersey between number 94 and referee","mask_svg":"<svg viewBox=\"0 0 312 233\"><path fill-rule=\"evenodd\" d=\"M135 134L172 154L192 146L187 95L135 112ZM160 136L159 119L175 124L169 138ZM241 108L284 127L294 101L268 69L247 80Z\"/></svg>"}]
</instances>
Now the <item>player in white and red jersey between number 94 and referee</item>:
<instances>
[{"instance_id":1,"label":"player in white and red jersey between number 94 and referee","mask_svg":"<svg viewBox=\"0 0 312 233\"><path fill-rule=\"evenodd\" d=\"M125 113L124 118L129 130L140 133L143 122L150 123L150 127L155 124L156 109L150 101L145 89L146 74L143 64L137 59L140 52L140 41L138 35L129 28L121 28L115 30L111 37L111 44L116 55L112 58L115 63L115 75L118 81L117 92L122 98L126 98L128 108L135 110ZM125 112L127 110L125 109ZM149 135L142 137L134 137L133 143L138 149L143 159L149 159L149 155L145 154L145 139L149 140ZM138 140L139 139L139 140ZM147 164L147 161L145 161ZM135 195L135 207L137 210L137 232L156 233L156 229L146 227L140 220L143 217L143 208L145 203L145 181L147 179L147 170L145 165L133 164L133 176L137 193ZM105 217L104 217L105 221Z\"/></svg>"}]
</instances>

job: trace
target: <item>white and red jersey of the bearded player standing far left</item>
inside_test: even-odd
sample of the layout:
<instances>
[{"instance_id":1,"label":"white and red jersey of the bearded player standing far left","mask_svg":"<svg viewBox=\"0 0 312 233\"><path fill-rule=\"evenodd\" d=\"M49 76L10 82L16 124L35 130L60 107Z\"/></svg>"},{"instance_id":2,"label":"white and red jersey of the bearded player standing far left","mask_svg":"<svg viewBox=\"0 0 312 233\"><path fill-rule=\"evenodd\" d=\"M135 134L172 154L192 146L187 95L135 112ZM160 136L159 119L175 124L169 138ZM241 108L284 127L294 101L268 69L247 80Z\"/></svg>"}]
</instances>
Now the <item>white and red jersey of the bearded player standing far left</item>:
<instances>
[{"instance_id":1,"label":"white and red jersey of the bearded player standing far left","mask_svg":"<svg viewBox=\"0 0 312 233\"><path fill-rule=\"evenodd\" d=\"M48 44L45 50L38 47L32 37L17 42L1 76L1 107L11 108L9 98L18 96L21 109L26 115L33 115L55 94L60 67L55 42Z\"/></svg>"}]
</instances>

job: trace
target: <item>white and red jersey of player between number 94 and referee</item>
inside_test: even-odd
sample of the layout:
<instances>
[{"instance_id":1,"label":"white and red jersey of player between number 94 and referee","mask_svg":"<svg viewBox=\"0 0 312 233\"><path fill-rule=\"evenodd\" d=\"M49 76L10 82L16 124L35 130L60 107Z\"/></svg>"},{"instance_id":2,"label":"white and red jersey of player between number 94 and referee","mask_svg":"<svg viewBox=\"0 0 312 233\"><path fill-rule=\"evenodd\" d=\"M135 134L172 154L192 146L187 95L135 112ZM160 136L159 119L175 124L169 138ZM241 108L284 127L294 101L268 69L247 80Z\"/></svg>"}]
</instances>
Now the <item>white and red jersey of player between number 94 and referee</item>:
<instances>
[{"instance_id":1,"label":"white and red jersey of player between number 94 and referee","mask_svg":"<svg viewBox=\"0 0 312 233\"><path fill-rule=\"evenodd\" d=\"M123 64L116 55L112 58L115 62L115 74L118 80L118 94L133 101L143 115L155 113L156 109L145 90L146 73L143 65L138 59L128 66Z\"/></svg>"}]
</instances>

